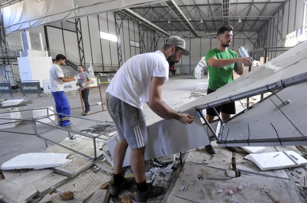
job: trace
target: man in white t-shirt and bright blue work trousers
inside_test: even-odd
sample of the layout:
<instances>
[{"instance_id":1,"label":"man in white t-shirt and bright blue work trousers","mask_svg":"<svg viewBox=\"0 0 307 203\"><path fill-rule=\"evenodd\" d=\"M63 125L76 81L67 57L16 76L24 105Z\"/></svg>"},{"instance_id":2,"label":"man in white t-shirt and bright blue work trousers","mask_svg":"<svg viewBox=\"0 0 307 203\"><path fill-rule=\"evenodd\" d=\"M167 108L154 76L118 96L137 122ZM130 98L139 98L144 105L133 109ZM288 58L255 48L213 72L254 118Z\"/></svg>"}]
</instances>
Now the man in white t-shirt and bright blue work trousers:
<instances>
[{"instance_id":1,"label":"man in white t-shirt and bright blue work trousers","mask_svg":"<svg viewBox=\"0 0 307 203\"><path fill-rule=\"evenodd\" d=\"M50 67L50 85L51 93L56 102L56 113L63 113L59 115L59 124L61 127L72 128L70 125L70 105L64 94L64 83L80 79L79 76L73 78L65 78L60 65L65 63L66 57L63 54L56 55L56 62Z\"/></svg>"}]
</instances>

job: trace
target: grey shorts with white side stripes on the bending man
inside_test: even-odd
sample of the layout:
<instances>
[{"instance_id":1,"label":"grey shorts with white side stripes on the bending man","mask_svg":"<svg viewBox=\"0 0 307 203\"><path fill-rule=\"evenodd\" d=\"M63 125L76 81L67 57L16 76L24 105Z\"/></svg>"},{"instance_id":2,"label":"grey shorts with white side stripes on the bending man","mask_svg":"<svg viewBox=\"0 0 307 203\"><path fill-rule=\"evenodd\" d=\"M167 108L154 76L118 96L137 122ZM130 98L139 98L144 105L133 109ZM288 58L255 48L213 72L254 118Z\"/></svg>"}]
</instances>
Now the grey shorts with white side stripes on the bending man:
<instances>
[{"instance_id":1,"label":"grey shorts with white side stripes on the bending man","mask_svg":"<svg viewBox=\"0 0 307 203\"><path fill-rule=\"evenodd\" d=\"M131 106L108 92L106 106L120 139L125 139L130 148L147 145L147 128L142 109Z\"/></svg>"}]
</instances>

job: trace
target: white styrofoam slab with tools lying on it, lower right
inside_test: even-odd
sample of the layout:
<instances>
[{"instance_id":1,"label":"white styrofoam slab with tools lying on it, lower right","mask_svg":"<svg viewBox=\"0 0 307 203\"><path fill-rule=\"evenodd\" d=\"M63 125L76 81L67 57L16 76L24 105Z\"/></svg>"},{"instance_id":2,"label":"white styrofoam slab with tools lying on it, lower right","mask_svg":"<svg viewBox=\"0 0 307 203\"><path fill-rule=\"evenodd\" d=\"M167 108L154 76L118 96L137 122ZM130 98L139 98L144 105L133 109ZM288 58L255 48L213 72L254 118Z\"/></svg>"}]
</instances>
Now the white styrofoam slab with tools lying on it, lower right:
<instances>
[{"instance_id":1,"label":"white styrofoam slab with tools lying on it, lower right","mask_svg":"<svg viewBox=\"0 0 307 203\"><path fill-rule=\"evenodd\" d=\"M301 157L298 153L294 151L286 151L289 155L293 155L298 160L297 164L292 158L284 152L270 152L270 153L260 153L260 154L249 154L252 161L257 164L257 166L262 170L271 169L281 169L281 168L291 168L295 166L307 165L307 160ZM278 156L276 156L278 154ZM274 157L276 156L276 157ZM274 158L273 158L274 157Z\"/></svg>"}]
</instances>

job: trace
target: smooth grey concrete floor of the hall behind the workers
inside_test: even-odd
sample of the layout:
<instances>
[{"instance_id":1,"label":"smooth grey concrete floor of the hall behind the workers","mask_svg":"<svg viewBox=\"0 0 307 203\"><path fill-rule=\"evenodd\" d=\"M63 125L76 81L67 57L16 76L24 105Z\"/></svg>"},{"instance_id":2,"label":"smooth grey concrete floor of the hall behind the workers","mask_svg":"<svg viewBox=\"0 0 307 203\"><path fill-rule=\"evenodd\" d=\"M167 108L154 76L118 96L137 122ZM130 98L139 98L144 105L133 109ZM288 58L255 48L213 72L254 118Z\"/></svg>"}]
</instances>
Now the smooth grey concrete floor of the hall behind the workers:
<instances>
[{"instance_id":1,"label":"smooth grey concrete floor of the hall behind the workers","mask_svg":"<svg viewBox=\"0 0 307 203\"><path fill-rule=\"evenodd\" d=\"M189 98L190 93L193 88L203 88L207 89L208 86L208 78L205 76L201 79L192 79L191 75L174 75L169 77L169 82L165 83L163 87L162 98L171 108L176 108L180 105L188 103L196 98ZM103 101L105 101L105 90L106 87L101 88L103 94ZM76 108L81 106L79 93L77 92L75 97L72 93L66 93L66 97L70 102L71 108ZM9 96L5 94L5 96ZM14 98L10 99L19 99L22 97L20 90L17 93L13 93ZM19 110L26 109L34 109L40 107L53 106L55 109L54 100L51 97L49 98L47 94L41 94L41 97L38 97L37 94L27 94L28 97L33 99L32 104L28 104L26 107L19 107ZM3 97L2 97L3 98ZM91 89L89 94L90 104L96 104L96 102L100 101L99 90ZM240 108L240 107L238 107ZM91 111L100 111L102 109L101 105L91 106ZM145 104L143 105L144 114L146 116L146 120L150 119L154 113L150 108ZM239 111L238 111L239 112ZM21 113L22 118L32 118L32 111L26 111ZM72 109L71 115L73 116L83 116L82 109ZM86 118L106 121L111 120L107 111L99 112L91 115L87 115ZM86 129L92 125L95 125L95 122L88 120L81 120L78 118L71 119L72 124L76 129L82 130ZM43 124L37 125L37 129L39 132L44 132L52 127L45 126ZM14 131L14 132L25 132L25 133L33 133L32 123L28 121L23 121L18 124L14 128L6 128L6 131ZM56 142L60 142L64 138L68 137L68 133L61 131L59 129L55 129L43 134L46 138L52 139ZM0 132L0 165L5 161L10 160L11 158L22 154L22 153L30 153L30 152L40 152L44 149L45 142L37 138L35 135L24 135L18 133L8 133L8 132Z\"/></svg>"}]
</instances>

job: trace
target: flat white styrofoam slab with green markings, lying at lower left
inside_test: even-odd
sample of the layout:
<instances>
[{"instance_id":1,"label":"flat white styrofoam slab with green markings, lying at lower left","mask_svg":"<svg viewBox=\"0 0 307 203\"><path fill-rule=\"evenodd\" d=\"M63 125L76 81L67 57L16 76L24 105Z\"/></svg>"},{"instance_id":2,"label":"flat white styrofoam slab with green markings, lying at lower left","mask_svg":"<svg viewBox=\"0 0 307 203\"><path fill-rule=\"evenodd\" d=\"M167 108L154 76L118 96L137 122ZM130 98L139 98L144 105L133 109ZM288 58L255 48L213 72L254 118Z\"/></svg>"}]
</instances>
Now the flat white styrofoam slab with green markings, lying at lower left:
<instances>
[{"instance_id":1,"label":"flat white styrofoam slab with green markings, lying at lower left","mask_svg":"<svg viewBox=\"0 0 307 203\"><path fill-rule=\"evenodd\" d=\"M26 153L20 154L1 165L1 170L21 168L51 168L68 164L68 153Z\"/></svg>"}]
</instances>

